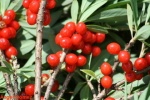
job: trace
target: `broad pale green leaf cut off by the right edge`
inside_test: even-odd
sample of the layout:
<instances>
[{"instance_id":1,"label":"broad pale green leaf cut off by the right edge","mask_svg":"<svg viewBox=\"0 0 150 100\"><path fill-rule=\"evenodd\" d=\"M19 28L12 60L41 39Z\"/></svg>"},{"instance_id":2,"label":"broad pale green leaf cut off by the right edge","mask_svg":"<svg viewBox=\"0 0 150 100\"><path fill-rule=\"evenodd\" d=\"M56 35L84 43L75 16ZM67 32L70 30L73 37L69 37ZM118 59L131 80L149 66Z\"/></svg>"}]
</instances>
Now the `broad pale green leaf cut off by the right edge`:
<instances>
[{"instance_id":1,"label":"broad pale green leaf cut off by the right edge","mask_svg":"<svg viewBox=\"0 0 150 100\"><path fill-rule=\"evenodd\" d=\"M150 36L150 25L144 25L137 31L134 38L143 41L146 40L149 36Z\"/></svg>"}]
</instances>

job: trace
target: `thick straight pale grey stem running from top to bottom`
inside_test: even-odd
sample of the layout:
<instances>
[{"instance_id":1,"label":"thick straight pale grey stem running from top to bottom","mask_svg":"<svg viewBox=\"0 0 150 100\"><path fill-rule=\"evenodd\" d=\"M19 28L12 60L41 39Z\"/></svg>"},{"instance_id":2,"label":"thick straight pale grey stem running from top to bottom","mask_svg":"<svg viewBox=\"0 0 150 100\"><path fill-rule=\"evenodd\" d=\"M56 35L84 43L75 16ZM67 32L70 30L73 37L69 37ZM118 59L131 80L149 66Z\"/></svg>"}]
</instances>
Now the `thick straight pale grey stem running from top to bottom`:
<instances>
[{"instance_id":1,"label":"thick straight pale grey stem running from top to bottom","mask_svg":"<svg viewBox=\"0 0 150 100\"><path fill-rule=\"evenodd\" d=\"M42 67L42 34L43 34L43 17L46 0L41 0L39 12L37 15L37 29L36 29L36 52L35 52L35 100L40 100L41 96L41 67Z\"/></svg>"}]
</instances>

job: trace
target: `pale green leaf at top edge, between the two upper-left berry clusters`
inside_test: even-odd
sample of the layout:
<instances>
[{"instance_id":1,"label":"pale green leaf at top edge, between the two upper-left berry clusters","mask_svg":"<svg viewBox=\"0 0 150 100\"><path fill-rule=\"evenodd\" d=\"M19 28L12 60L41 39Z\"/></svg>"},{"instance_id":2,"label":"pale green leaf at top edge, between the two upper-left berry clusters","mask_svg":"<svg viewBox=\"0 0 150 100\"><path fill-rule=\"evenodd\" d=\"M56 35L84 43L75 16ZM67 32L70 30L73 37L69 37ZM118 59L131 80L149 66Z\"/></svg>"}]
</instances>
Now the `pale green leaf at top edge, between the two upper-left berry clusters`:
<instances>
[{"instance_id":1,"label":"pale green leaf at top edge, between the two upper-left berry clusters","mask_svg":"<svg viewBox=\"0 0 150 100\"><path fill-rule=\"evenodd\" d=\"M19 8L22 6L22 2L23 0L13 0L13 2L10 3L7 9L13 9L14 11L18 11Z\"/></svg>"}]
</instances>

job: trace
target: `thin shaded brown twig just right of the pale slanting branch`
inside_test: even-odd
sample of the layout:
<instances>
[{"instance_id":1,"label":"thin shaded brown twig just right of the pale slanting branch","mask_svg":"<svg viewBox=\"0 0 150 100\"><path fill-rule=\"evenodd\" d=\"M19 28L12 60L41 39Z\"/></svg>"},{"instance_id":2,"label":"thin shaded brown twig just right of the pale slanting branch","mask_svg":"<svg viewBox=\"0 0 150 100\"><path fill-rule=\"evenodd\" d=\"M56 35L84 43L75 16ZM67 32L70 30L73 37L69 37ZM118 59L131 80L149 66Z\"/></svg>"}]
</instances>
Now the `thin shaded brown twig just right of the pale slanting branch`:
<instances>
[{"instance_id":1,"label":"thin shaded brown twig just right of the pale slanting branch","mask_svg":"<svg viewBox=\"0 0 150 100\"><path fill-rule=\"evenodd\" d=\"M61 89L61 91L59 92L59 94L58 94L58 96L56 97L55 100L60 100L60 99L61 99L61 97L63 96L65 90L67 89L67 85L68 85L68 83L70 82L70 79L72 78L72 76L73 76L73 73L69 73L69 74L67 75L67 77L66 77L66 79L65 79L65 82L63 83L62 89Z\"/></svg>"}]
</instances>

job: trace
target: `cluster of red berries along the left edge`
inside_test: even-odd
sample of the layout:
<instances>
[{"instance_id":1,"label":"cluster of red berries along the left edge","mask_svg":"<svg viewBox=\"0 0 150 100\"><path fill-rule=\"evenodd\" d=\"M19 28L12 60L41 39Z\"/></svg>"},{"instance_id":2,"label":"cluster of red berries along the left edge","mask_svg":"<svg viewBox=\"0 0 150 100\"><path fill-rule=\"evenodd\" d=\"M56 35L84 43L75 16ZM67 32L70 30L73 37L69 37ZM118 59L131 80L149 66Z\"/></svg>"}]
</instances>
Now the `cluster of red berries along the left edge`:
<instances>
[{"instance_id":1,"label":"cluster of red berries along the left edge","mask_svg":"<svg viewBox=\"0 0 150 100\"><path fill-rule=\"evenodd\" d=\"M20 27L15 17L14 10L6 10L3 16L0 15L0 49L4 51L8 59L18 54L17 49L9 41L16 37L16 31Z\"/></svg>"}]
</instances>

